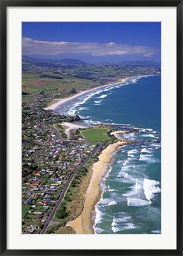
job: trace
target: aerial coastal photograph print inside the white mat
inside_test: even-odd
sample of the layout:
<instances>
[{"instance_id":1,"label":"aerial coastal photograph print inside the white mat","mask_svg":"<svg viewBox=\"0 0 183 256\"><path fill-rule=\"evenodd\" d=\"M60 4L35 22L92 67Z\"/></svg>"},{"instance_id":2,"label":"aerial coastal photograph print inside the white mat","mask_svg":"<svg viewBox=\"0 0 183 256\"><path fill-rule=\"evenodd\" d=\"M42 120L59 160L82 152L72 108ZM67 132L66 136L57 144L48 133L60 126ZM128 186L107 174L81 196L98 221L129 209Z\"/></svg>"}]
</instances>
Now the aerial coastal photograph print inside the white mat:
<instances>
[{"instance_id":1,"label":"aerial coastal photograph print inside the white mat","mask_svg":"<svg viewBox=\"0 0 183 256\"><path fill-rule=\"evenodd\" d=\"M161 23L134 27L22 23L22 234L161 232Z\"/></svg>"}]
</instances>

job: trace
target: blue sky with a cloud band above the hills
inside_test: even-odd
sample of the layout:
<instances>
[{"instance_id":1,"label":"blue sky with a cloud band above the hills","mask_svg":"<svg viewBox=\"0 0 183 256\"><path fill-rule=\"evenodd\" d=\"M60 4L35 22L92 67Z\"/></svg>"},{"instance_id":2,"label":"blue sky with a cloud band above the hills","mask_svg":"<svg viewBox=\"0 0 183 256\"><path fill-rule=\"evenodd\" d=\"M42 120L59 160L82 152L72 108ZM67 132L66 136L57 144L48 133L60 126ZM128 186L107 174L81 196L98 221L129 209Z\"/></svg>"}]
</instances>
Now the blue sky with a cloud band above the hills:
<instances>
[{"instance_id":1,"label":"blue sky with a cloud band above the hills","mask_svg":"<svg viewBox=\"0 0 183 256\"><path fill-rule=\"evenodd\" d=\"M22 54L86 62L161 60L161 23L22 23Z\"/></svg>"}]
</instances>

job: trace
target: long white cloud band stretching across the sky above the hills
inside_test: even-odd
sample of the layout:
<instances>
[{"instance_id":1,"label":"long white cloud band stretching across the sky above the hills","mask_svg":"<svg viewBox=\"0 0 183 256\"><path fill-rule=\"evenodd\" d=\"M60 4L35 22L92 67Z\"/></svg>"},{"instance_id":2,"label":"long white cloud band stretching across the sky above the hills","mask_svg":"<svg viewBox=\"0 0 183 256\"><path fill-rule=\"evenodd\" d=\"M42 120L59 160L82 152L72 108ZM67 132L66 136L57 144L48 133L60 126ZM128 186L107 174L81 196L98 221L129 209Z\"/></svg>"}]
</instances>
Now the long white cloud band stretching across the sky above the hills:
<instances>
[{"instance_id":1,"label":"long white cloud band stretching across the sky above the hills","mask_svg":"<svg viewBox=\"0 0 183 256\"><path fill-rule=\"evenodd\" d=\"M29 55L59 55L66 53L89 54L92 56L106 55L143 55L152 57L159 49L147 46L130 46L127 44L110 43L79 43L38 41L22 37L22 53Z\"/></svg>"}]
</instances>

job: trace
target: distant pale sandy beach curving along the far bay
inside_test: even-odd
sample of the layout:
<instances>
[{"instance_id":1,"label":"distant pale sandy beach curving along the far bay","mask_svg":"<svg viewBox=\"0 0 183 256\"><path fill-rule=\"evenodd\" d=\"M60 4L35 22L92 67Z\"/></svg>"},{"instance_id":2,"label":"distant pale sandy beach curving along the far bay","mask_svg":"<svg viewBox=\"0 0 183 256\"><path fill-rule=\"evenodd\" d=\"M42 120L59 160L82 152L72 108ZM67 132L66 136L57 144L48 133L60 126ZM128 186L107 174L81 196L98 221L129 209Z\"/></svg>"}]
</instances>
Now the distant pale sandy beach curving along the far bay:
<instances>
[{"instance_id":1,"label":"distant pale sandy beach curving along the far bay","mask_svg":"<svg viewBox=\"0 0 183 256\"><path fill-rule=\"evenodd\" d=\"M56 103L44 108L45 110L57 110L58 108L60 108L62 105L66 104L66 103L69 103L70 101L72 100L75 100L76 98L80 97L80 96L83 96L84 94L87 94L88 92L92 92L96 89L99 89L99 88L103 88L103 87L106 87L106 86L109 86L109 85L118 85L118 84L121 84L122 82L125 82L128 78L124 78L124 79L119 79L120 82L113 82L113 83L110 83L110 84L106 84L106 85L102 85L100 87L96 87L96 88L93 88L93 89L89 89L87 91L81 91L79 92L78 94L75 94L71 97L68 97L68 98L61 98L61 99L55 99L55 101L57 101Z\"/></svg>"}]
</instances>

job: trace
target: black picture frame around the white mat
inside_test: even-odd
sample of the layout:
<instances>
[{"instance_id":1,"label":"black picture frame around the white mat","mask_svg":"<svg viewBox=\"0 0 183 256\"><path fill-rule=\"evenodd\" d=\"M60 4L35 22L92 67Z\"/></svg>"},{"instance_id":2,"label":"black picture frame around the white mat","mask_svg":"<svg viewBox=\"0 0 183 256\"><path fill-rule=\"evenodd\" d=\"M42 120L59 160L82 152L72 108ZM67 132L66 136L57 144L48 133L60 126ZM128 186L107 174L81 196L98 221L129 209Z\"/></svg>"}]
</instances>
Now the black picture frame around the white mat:
<instances>
[{"instance_id":1,"label":"black picture frame around the white mat","mask_svg":"<svg viewBox=\"0 0 183 256\"><path fill-rule=\"evenodd\" d=\"M182 0L15 0L1 3L1 255L183 255L182 251ZM172 250L14 250L6 249L6 8L7 7L177 7L177 249ZM82 238L81 238L82 239Z\"/></svg>"}]
</instances>

